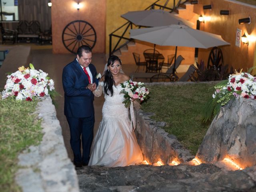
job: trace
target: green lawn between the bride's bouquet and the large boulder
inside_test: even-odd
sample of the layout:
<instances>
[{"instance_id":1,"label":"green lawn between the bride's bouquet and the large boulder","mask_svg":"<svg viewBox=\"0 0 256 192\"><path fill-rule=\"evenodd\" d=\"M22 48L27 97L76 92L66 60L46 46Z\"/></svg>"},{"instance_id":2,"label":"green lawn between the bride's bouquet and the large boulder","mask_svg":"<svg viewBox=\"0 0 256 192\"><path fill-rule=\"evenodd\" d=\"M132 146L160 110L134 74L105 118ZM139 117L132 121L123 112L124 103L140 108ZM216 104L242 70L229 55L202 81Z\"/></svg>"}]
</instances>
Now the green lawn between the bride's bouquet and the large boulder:
<instances>
[{"instance_id":1,"label":"green lawn between the bride's bouquet and the large boulder","mask_svg":"<svg viewBox=\"0 0 256 192\"><path fill-rule=\"evenodd\" d=\"M151 118L164 121L164 130L195 155L210 125L202 123L201 110L212 97L214 84L152 85L150 99L142 104L142 110L154 112Z\"/></svg>"}]
</instances>

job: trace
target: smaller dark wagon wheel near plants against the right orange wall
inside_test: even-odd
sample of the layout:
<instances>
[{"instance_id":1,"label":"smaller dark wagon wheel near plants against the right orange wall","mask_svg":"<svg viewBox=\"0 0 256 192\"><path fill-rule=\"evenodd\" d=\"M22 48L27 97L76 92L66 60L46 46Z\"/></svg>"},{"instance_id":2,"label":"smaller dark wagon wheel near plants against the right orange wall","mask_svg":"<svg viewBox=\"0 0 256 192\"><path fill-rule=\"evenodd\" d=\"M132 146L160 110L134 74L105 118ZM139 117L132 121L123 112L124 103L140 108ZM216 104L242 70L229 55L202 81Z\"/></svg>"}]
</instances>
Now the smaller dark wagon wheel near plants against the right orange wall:
<instances>
[{"instance_id":1,"label":"smaller dark wagon wheel near plants against the right orange wall","mask_svg":"<svg viewBox=\"0 0 256 192\"><path fill-rule=\"evenodd\" d=\"M219 69L223 64L223 55L222 51L218 47L212 48L208 57L207 68L216 68Z\"/></svg>"}]
</instances>

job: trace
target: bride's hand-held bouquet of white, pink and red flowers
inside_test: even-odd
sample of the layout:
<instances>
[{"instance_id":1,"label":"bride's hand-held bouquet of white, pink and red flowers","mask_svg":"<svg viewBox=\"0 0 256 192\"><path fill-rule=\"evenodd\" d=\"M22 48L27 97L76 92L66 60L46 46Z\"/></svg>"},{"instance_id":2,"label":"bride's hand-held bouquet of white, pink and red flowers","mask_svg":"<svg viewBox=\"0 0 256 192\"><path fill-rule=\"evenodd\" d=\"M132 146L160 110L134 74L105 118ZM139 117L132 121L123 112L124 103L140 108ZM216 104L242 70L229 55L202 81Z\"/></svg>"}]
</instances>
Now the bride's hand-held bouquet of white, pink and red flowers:
<instances>
[{"instance_id":1,"label":"bride's hand-held bouquet of white, pink and red flowers","mask_svg":"<svg viewBox=\"0 0 256 192\"><path fill-rule=\"evenodd\" d=\"M125 100L123 101L126 108L130 107L132 100L139 100L143 102L149 96L148 88L144 87L144 83L136 81L125 81L121 83L124 88L120 93L124 94Z\"/></svg>"}]
</instances>

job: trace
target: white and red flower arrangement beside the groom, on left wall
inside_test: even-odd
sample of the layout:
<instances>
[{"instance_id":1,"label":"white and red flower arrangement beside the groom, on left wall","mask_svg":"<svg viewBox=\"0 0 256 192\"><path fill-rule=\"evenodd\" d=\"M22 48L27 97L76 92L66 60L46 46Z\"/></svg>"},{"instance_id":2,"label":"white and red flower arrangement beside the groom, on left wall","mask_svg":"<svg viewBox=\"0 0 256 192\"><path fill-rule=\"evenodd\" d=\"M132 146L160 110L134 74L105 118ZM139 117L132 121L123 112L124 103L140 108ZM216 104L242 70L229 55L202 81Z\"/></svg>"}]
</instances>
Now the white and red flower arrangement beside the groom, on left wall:
<instances>
[{"instance_id":1,"label":"white and red flower arrangement beside the groom, on left wall","mask_svg":"<svg viewBox=\"0 0 256 192\"><path fill-rule=\"evenodd\" d=\"M35 97L44 97L54 90L54 81L42 70L19 67L18 71L7 76L2 99L15 97L16 100L32 101Z\"/></svg>"}]
</instances>

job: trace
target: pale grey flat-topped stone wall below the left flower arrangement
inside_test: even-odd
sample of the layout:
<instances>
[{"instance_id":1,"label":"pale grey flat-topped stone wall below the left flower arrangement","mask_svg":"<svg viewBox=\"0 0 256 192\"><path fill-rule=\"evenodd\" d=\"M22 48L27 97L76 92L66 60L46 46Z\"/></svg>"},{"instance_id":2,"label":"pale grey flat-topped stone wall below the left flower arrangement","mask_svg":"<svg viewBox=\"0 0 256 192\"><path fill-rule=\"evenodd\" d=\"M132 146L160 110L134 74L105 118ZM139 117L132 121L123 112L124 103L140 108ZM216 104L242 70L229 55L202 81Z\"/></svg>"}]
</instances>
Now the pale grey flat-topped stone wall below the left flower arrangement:
<instances>
[{"instance_id":1,"label":"pale grey flat-topped stone wall below the left flower arrangement","mask_svg":"<svg viewBox=\"0 0 256 192\"><path fill-rule=\"evenodd\" d=\"M60 122L48 96L36 108L44 136L18 156L16 182L23 192L79 192L76 170L68 158Z\"/></svg>"}]
</instances>

